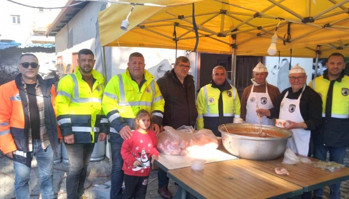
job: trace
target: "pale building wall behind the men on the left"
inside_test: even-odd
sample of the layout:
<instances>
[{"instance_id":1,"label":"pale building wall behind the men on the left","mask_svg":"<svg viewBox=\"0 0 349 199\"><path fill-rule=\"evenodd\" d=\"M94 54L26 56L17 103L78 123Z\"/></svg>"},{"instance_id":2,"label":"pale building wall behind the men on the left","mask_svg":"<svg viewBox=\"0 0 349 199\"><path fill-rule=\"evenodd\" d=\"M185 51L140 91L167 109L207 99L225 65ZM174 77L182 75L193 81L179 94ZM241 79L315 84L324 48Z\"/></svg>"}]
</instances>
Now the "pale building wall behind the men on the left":
<instances>
[{"instance_id":1,"label":"pale building wall behind the men on the left","mask_svg":"<svg viewBox=\"0 0 349 199\"><path fill-rule=\"evenodd\" d=\"M64 64L72 63L73 53L88 48L95 54L95 69L103 73L103 50L99 43L97 19L98 12L105 9L105 7L106 3L90 2L56 34L56 56L62 56ZM108 80L113 75L125 72L129 55L133 52L140 52L144 55L146 69L156 79L164 75L163 69L170 70L175 61L175 50L171 49L135 47L105 47L104 49L107 68L105 74ZM189 73L196 77L196 53L186 53L186 51L178 50L177 56L187 56L189 58L192 66Z\"/></svg>"}]
</instances>

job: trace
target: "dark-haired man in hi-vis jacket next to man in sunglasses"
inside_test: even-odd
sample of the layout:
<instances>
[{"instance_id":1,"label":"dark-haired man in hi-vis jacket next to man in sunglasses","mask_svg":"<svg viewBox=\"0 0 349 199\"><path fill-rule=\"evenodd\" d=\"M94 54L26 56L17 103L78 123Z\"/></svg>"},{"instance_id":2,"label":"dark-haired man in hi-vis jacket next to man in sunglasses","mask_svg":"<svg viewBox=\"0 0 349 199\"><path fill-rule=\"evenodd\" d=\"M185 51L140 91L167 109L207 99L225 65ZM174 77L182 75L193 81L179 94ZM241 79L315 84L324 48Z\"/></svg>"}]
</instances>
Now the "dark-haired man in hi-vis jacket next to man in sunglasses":
<instances>
[{"instance_id":1,"label":"dark-haired man in hi-vis jacket next to man in sunglasses","mask_svg":"<svg viewBox=\"0 0 349 199\"><path fill-rule=\"evenodd\" d=\"M84 182L95 143L104 141L109 132L102 111L104 78L93 69L94 54L90 49L82 49L77 61L76 71L59 81L56 99L57 121L69 161L68 199L85 198Z\"/></svg>"}]
</instances>

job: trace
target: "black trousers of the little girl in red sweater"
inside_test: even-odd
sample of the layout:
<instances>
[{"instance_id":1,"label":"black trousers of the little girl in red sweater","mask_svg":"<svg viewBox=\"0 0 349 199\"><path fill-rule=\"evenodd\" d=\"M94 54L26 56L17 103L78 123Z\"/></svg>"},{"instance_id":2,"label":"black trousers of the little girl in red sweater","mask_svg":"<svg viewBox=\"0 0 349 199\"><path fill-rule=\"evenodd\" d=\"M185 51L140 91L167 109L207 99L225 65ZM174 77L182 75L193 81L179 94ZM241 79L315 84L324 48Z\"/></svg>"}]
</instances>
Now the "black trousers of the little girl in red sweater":
<instances>
[{"instance_id":1,"label":"black trousers of the little girl in red sweater","mask_svg":"<svg viewBox=\"0 0 349 199\"><path fill-rule=\"evenodd\" d=\"M149 176L124 176L124 199L145 199Z\"/></svg>"}]
</instances>

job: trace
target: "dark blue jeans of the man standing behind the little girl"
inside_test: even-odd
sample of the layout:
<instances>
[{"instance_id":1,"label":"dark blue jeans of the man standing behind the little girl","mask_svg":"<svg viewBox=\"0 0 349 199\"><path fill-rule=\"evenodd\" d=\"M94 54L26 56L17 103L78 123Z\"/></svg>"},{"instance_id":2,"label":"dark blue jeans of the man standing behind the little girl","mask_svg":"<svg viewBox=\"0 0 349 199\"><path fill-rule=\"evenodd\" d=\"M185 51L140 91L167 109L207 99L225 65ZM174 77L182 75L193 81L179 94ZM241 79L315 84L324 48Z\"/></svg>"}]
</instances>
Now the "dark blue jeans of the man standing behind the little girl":
<instances>
[{"instance_id":1,"label":"dark blue jeans of the man standing behind the little girl","mask_svg":"<svg viewBox=\"0 0 349 199\"><path fill-rule=\"evenodd\" d=\"M122 139L120 137L120 139ZM121 141L121 140L120 140ZM124 160L121 156L121 146L122 142L111 142L112 149L112 173L111 173L111 189L110 189L110 199L122 199L122 183L124 182L124 171L122 170L122 166L124 164Z\"/></svg>"}]
</instances>

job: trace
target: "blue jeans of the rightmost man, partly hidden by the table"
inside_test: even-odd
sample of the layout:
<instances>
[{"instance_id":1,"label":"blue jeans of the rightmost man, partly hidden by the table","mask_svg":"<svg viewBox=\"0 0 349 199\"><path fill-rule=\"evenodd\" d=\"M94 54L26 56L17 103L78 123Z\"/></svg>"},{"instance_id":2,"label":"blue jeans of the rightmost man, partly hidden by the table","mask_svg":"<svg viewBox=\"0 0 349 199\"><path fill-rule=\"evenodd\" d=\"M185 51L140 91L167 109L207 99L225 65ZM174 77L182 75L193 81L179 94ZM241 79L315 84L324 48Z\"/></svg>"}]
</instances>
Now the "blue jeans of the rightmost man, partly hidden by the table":
<instances>
[{"instance_id":1,"label":"blue jeans of the rightmost man, partly hidden by the table","mask_svg":"<svg viewBox=\"0 0 349 199\"><path fill-rule=\"evenodd\" d=\"M330 153L330 160L335 161L337 163L344 163L344 156L346 155L347 147L330 147L323 145L314 145L314 158L319 160L326 160L327 152ZM334 185L330 185L330 199L341 199L341 183L336 183ZM323 196L323 188L314 190L314 195L317 197Z\"/></svg>"}]
</instances>

